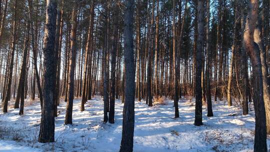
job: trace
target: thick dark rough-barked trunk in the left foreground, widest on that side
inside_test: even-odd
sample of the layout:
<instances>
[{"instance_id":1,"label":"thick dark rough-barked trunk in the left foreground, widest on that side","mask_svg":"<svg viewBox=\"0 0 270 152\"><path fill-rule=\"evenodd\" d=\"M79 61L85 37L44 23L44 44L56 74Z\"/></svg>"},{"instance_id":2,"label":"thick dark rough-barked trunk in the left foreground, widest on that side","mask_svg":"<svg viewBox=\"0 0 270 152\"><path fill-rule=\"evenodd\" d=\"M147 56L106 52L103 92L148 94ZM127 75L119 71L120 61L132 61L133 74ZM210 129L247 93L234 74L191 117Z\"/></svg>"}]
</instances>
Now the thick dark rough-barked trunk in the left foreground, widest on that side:
<instances>
[{"instance_id":1,"label":"thick dark rough-barked trunk in the left foreground, widest on that side","mask_svg":"<svg viewBox=\"0 0 270 152\"><path fill-rule=\"evenodd\" d=\"M56 26L56 0L47 0L46 3L46 22L43 41L43 94L41 121L38 141L54 142L54 93L55 93L55 26Z\"/></svg>"}]
</instances>

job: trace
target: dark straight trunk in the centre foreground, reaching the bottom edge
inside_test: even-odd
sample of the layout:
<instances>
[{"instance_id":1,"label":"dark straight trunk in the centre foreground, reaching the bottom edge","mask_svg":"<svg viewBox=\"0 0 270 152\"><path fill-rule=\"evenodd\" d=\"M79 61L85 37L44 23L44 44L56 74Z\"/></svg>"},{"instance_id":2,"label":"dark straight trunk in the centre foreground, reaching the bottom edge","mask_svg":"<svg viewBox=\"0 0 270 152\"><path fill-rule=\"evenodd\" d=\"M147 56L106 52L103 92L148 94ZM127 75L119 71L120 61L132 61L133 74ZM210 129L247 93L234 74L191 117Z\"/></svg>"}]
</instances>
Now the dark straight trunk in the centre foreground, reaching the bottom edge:
<instances>
[{"instance_id":1,"label":"dark straight trunk in the centre foreground, reaching the bottom edge","mask_svg":"<svg viewBox=\"0 0 270 152\"><path fill-rule=\"evenodd\" d=\"M133 57L133 12L134 0L125 0L124 12L124 64L125 64L125 87L122 139L120 152L133 151L134 133L134 96L135 96L135 67Z\"/></svg>"}]
</instances>

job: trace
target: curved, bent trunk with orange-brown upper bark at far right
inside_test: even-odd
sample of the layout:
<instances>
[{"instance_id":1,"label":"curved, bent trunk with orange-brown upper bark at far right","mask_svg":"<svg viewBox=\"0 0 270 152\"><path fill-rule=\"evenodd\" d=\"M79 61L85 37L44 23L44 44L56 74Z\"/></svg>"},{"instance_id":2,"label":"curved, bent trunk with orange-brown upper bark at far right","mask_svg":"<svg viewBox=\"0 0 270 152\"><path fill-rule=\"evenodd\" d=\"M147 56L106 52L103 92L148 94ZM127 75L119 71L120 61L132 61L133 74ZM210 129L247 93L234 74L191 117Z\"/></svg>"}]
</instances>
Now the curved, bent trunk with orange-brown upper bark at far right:
<instances>
[{"instance_id":1,"label":"curved, bent trunk with orange-brown upper bark at far right","mask_svg":"<svg viewBox=\"0 0 270 152\"><path fill-rule=\"evenodd\" d=\"M259 48L254 42L254 29L258 19L258 0L250 0L248 3L248 16L246 19L243 42L252 63L253 102L255 109L255 138L254 151L267 151L266 145L266 118L263 103L263 80Z\"/></svg>"}]
</instances>

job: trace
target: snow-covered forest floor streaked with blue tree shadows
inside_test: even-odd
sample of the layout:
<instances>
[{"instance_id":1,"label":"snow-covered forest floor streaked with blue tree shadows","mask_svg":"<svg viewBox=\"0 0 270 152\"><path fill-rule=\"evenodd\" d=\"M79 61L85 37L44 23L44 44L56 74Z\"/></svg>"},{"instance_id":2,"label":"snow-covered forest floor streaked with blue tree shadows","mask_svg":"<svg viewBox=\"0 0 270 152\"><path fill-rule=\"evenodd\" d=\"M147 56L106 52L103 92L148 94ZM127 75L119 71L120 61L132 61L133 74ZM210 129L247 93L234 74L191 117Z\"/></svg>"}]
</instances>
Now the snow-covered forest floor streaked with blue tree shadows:
<instances>
[{"instance_id":1,"label":"snow-covered forest floor streaked with blue tree shadows","mask_svg":"<svg viewBox=\"0 0 270 152\"><path fill-rule=\"evenodd\" d=\"M99 96L88 100L85 111L79 109L80 99L73 104L72 125L64 125L65 102L58 107L55 118L55 142L37 142L40 104L32 101L19 109L0 112L0 151L118 151L122 130L122 107L115 101L115 123L103 124L103 101ZM226 103L225 103L226 104ZM135 101L133 151L252 151L254 111L242 115L238 106L227 107L223 101L213 103L213 117L207 117L203 105L203 125L194 126L194 99L179 100L175 119L172 100L165 105L148 107ZM252 108L252 105L251 105ZM253 109L253 108L252 108ZM267 139L269 148L270 137Z\"/></svg>"}]
</instances>

